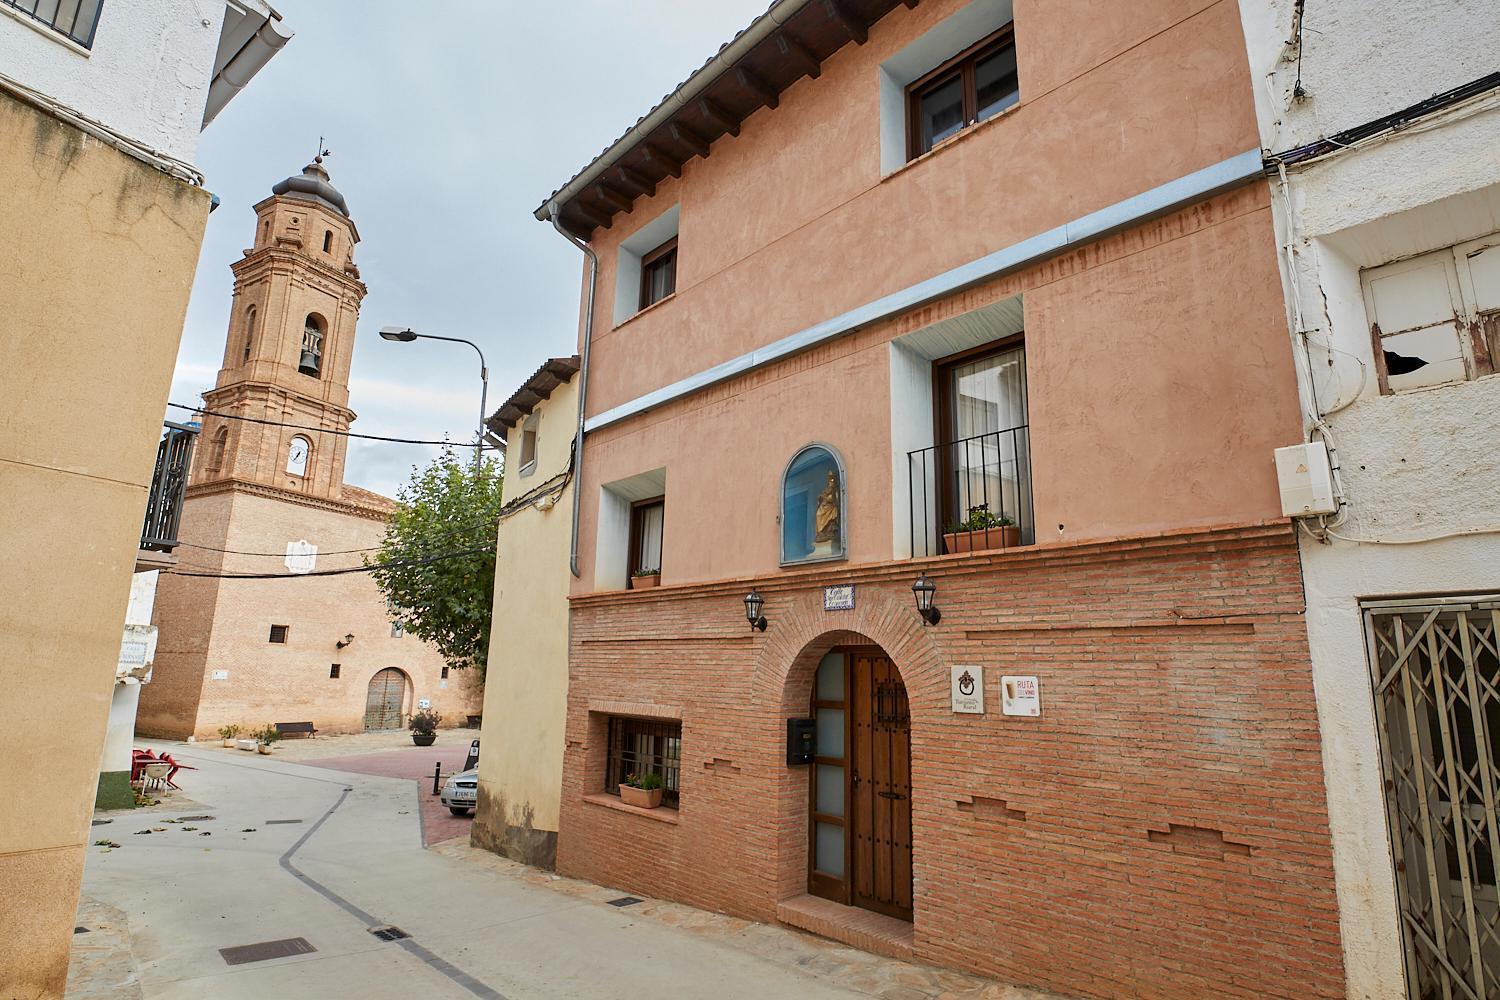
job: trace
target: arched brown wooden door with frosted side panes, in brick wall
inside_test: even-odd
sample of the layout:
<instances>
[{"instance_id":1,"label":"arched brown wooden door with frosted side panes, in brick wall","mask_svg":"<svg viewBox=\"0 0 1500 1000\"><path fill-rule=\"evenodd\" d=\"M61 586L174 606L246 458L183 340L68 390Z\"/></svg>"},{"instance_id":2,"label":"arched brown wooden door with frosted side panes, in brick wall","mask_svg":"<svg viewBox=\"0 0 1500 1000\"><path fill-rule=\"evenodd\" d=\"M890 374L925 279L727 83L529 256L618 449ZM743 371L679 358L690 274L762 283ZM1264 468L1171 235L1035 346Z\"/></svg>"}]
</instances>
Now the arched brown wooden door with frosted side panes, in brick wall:
<instances>
[{"instance_id":1,"label":"arched brown wooden door with frosted side panes, in brick wall","mask_svg":"<svg viewBox=\"0 0 1500 1000\"><path fill-rule=\"evenodd\" d=\"M807 891L912 919L912 721L878 646L837 646L813 679L818 720Z\"/></svg>"}]
</instances>

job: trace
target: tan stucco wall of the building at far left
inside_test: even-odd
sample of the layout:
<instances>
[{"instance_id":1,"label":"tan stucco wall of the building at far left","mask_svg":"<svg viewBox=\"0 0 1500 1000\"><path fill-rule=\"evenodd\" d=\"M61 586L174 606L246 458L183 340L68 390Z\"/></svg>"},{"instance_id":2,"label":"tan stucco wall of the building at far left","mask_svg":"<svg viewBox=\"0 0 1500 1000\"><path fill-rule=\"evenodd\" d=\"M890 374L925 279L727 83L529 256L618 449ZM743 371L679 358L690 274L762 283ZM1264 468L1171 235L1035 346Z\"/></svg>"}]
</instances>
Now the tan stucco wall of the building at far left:
<instances>
[{"instance_id":1,"label":"tan stucco wall of the building at far left","mask_svg":"<svg viewBox=\"0 0 1500 1000\"><path fill-rule=\"evenodd\" d=\"M0 996L62 997L208 193L0 96Z\"/></svg>"}]
</instances>

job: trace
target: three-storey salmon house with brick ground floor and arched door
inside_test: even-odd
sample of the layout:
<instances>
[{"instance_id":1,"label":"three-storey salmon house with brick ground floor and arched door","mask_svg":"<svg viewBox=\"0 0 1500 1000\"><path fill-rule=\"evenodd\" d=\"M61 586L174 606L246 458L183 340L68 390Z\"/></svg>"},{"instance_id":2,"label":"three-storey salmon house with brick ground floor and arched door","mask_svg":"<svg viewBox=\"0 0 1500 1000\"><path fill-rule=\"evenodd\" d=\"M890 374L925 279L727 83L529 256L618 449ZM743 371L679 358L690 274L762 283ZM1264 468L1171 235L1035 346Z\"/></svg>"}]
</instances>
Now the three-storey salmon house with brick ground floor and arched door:
<instances>
[{"instance_id":1,"label":"three-storey salmon house with brick ground floor and arched door","mask_svg":"<svg viewBox=\"0 0 1500 1000\"><path fill-rule=\"evenodd\" d=\"M783 1L538 208L596 262L560 871L1346 996L1251 85L1233 4Z\"/></svg>"}]
</instances>

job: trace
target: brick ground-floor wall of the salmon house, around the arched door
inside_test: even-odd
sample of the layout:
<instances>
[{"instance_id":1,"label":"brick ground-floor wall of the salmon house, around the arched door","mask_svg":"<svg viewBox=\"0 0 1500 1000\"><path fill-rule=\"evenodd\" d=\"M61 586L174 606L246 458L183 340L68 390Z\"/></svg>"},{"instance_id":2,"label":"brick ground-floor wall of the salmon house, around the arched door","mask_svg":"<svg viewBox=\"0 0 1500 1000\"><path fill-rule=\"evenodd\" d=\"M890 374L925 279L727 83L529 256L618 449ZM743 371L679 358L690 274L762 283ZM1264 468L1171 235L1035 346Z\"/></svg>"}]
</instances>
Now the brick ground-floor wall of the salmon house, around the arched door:
<instances>
[{"instance_id":1,"label":"brick ground-floor wall of the salmon house, around the arched door","mask_svg":"<svg viewBox=\"0 0 1500 1000\"><path fill-rule=\"evenodd\" d=\"M824 612L848 582L855 610ZM1344 996L1286 525L574 598L558 870L774 921L807 879L784 718L849 642L910 697L918 961L1094 997ZM984 667L986 715L950 711L950 664ZM1000 714L1002 673L1041 679L1040 718ZM585 799L621 703L682 720L675 822Z\"/></svg>"}]
</instances>

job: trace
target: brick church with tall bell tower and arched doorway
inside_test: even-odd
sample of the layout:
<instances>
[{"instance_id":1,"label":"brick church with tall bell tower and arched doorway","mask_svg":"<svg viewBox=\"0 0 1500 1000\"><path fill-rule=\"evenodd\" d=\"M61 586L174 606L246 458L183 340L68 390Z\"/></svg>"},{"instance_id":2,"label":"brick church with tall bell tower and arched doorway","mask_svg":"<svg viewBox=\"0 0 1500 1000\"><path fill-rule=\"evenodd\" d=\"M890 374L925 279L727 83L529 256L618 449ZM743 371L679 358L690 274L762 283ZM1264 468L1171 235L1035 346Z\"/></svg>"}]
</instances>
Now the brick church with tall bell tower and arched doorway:
<instances>
[{"instance_id":1,"label":"brick church with tall bell tower and arched doorway","mask_svg":"<svg viewBox=\"0 0 1500 1000\"><path fill-rule=\"evenodd\" d=\"M357 570L394 510L344 483L358 231L318 160L255 211L255 244L232 265L224 367L204 393L182 561L158 586L136 729L352 733L400 729L426 706L462 726L480 711L478 679L406 636L368 573L322 576Z\"/></svg>"}]
</instances>

